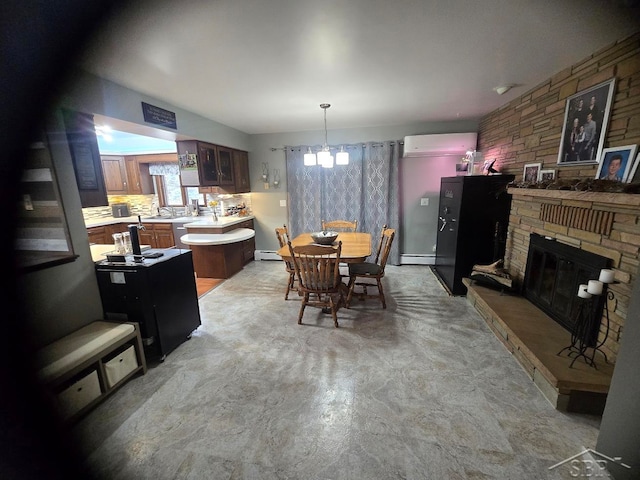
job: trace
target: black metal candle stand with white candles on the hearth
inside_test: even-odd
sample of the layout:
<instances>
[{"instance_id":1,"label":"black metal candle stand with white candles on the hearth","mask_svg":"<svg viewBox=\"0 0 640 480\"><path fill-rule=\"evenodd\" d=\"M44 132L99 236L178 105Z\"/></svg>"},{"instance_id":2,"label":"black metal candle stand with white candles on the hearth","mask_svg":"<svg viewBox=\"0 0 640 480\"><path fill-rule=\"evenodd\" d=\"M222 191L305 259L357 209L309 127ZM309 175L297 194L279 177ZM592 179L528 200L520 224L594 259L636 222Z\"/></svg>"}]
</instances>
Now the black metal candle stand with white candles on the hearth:
<instances>
[{"instance_id":1,"label":"black metal candle stand with white candles on the hearth","mask_svg":"<svg viewBox=\"0 0 640 480\"><path fill-rule=\"evenodd\" d=\"M609 359L607 358L607 354L602 350L602 347L609 338L609 301L612 301L615 298L614 293L608 289L608 285L611 283L617 283L614 280L613 270L610 269L602 269L600 271L600 276L598 280L589 280L586 284L581 284L578 288L578 297L582 299L580 303L580 307L578 308L578 312L576 314L576 321L571 330L571 345L560 350L557 355L560 355L562 352L568 350L568 357L573 357L573 360L569 364L569 368L573 368L573 364L576 362L578 358L583 358L585 363L590 367L595 368L595 355L596 352L600 352L604 357L605 363L609 363ZM604 316L600 318L595 318L593 314L592 304L594 302L594 297L598 297L600 295L605 295L604 302ZM589 332L593 331L595 327L594 322L598 322L600 324L602 322L602 318L605 318L605 333L600 342L596 340L595 345L590 346L588 343L587 336ZM589 355L590 353L590 355Z\"/></svg>"}]
</instances>

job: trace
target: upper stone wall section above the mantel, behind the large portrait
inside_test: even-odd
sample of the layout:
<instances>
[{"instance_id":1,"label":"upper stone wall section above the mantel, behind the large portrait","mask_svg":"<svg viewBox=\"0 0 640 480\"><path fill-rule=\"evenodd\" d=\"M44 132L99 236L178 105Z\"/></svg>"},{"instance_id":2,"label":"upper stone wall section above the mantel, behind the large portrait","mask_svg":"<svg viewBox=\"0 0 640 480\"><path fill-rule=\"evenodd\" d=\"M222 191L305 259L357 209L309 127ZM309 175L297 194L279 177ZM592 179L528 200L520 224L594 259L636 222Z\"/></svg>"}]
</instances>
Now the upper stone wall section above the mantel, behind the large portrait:
<instances>
[{"instance_id":1,"label":"upper stone wall section above the mantel, behind the large portrait","mask_svg":"<svg viewBox=\"0 0 640 480\"><path fill-rule=\"evenodd\" d=\"M522 180L526 163L559 179L594 178L598 165L563 165L558 151L567 98L616 77L604 147L640 144L640 32L595 52L481 119L478 150ZM640 169L638 169L640 170ZM640 181L640 172L636 174Z\"/></svg>"}]
</instances>

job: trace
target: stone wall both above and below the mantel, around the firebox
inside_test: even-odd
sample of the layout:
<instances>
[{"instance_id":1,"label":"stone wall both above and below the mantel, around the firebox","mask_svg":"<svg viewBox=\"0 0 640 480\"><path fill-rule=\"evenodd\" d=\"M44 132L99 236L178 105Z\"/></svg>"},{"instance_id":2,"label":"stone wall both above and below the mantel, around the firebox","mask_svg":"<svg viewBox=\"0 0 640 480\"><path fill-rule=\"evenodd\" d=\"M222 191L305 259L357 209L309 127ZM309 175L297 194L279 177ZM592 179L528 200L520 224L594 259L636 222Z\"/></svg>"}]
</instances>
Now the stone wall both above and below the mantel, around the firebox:
<instances>
[{"instance_id":1,"label":"stone wall both above and below the mantel, around the firebox","mask_svg":"<svg viewBox=\"0 0 640 480\"><path fill-rule=\"evenodd\" d=\"M522 180L524 165L541 163L558 179L594 178L598 165L558 167L567 98L616 78L604 147L640 144L640 31L609 45L481 119L478 150ZM640 182L640 168L633 182ZM631 285L640 266L640 195L510 189L513 193L505 265L524 278L529 234L539 233L613 260L616 302L605 351L618 352Z\"/></svg>"}]
</instances>

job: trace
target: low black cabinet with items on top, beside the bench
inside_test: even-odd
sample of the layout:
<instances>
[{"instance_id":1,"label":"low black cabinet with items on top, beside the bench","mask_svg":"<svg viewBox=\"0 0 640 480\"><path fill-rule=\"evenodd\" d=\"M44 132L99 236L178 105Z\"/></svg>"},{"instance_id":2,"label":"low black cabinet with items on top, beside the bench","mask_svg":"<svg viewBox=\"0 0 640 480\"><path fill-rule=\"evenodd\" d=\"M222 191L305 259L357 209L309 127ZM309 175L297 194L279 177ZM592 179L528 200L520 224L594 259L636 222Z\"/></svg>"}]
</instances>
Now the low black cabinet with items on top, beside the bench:
<instances>
[{"instance_id":1,"label":"low black cabinet with items on top, beside the bench","mask_svg":"<svg viewBox=\"0 0 640 480\"><path fill-rule=\"evenodd\" d=\"M193 258L176 248L144 255L98 262L96 275L105 318L138 322L145 354L163 361L201 325Z\"/></svg>"}]
</instances>

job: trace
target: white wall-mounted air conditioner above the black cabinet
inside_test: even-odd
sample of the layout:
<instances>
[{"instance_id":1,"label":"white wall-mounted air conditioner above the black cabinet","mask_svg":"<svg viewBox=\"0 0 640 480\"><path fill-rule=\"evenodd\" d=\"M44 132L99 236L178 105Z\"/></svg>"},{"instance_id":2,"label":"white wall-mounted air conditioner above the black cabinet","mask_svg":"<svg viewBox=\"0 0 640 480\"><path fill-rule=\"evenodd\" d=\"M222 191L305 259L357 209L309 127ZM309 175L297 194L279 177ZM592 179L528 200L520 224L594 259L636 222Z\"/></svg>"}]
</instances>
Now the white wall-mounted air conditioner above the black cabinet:
<instances>
[{"instance_id":1,"label":"white wall-mounted air conditioner above the black cabinet","mask_svg":"<svg viewBox=\"0 0 640 480\"><path fill-rule=\"evenodd\" d=\"M433 155L464 155L475 150L478 133L438 133L404 137L403 157L427 157Z\"/></svg>"}]
</instances>

